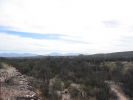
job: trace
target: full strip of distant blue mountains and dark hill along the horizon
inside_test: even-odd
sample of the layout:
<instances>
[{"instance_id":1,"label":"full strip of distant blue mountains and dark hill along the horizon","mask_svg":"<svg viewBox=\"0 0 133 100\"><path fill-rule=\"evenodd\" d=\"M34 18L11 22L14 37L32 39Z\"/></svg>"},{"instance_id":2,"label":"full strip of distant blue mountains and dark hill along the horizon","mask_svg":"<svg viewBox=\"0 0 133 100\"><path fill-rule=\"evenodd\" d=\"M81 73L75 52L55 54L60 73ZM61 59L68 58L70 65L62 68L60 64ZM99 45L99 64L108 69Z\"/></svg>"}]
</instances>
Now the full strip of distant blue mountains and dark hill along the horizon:
<instances>
[{"instance_id":1,"label":"full strip of distant blue mountains and dark hill along the horizon","mask_svg":"<svg viewBox=\"0 0 133 100\"><path fill-rule=\"evenodd\" d=\"M31 53L23 53L23 54L18 54L18 53L1 53L0 57L45 57L45 56L78 56L82 55L80 53L67 53L67 54L61 54L57 52L53 52L50 54L45 54L45 55L38 55L38 54L31 54ZM125 52L114 52L114 53L101 53L101 54L83 54L85 56L89 57L98 57L98 58L110 58L110 57L133 57L133 51L125 51Z\"/></svg>"}]
</instances>

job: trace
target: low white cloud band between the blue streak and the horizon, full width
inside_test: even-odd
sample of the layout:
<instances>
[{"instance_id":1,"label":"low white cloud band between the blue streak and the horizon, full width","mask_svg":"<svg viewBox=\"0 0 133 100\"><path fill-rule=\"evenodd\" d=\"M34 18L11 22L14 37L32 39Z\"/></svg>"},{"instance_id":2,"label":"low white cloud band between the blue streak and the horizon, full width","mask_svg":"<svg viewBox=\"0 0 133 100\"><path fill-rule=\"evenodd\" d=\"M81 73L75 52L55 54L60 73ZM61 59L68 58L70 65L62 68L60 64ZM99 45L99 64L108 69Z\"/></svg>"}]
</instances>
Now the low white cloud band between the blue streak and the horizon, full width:
<instances>
[{"instance_id":1,"label":"low white cloud band between the blue streak and the horizon, full width","mask_svg":"<svg viewBox=\"0 0 133 100\"><path fill-rule=\"evenodd\" d=\"M120 41L119 41L120 42ZM107 43L69 43L63 40L39 40L24 38L14 35L0 33L0 53L17 52L17 53L37 53L48 54L51 52L60 53L107 53L112 51L132 50L133 43L126 44L126 48L119 46L123 41L112 41ZM109 45L110 44L110 45Z\"/></svg>"}]
</instances>

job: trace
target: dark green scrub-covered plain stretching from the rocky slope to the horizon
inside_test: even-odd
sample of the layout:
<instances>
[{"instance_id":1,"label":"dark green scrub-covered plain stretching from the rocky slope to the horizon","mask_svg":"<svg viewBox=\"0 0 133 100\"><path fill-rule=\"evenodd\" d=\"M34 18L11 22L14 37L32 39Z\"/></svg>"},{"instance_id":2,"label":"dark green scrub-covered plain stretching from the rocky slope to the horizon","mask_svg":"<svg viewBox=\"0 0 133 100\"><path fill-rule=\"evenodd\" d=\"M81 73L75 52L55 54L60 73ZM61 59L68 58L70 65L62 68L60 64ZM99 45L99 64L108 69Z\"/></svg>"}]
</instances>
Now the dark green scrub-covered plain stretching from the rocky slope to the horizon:
<instances>
[{"instance_id":1,"label":"dark green scrub-covered plain stretching from the rocky slope to the horizon","mask_svg":"<svg viewBox=\"0 0 133 100\"><path fill-rule=\"evenodd\" d=\"M133 58L132 52L126 53L107 54L108 57L103 54L1 58L0 61L26 75L34 92L43 100L116 100L120 93L111 86L118 86L125 97L133 98ZM106 81L115 84L110 86Z\"/></svg>"}]
</instances>

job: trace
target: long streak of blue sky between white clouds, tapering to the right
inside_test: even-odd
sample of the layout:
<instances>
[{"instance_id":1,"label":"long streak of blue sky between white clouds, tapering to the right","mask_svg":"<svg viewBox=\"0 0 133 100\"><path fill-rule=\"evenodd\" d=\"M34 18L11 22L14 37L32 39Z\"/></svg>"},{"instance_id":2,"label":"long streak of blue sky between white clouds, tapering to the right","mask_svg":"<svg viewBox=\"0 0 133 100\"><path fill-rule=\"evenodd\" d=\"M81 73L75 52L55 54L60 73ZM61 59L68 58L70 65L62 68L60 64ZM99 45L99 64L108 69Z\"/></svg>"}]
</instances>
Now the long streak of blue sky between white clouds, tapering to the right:
<instances>
[{"instance_id":1,"label":"long streak of blue sky between white clouds, tapering to the right","mask_svg":"<svg viewBox=\"0 0 133 100\"><path fill-rule=\"evenodd\" d=\"M67 36L67 35L60 35L60 34L39 34L39 33L29 33L29 32L20 32L20 31L13 31L10 27L3 27L0 26L0 32L9 34L9 35L16 35L20 37L26 37L26 38L33 38L33 39L45 39L45 40L63 40L68 43L81 43L81 44L88 44L87 42L80 41L80 40L67 40L62 39L61 36ZM90 44L90 43L89 43Z\"/></svg>"}]
</instances>

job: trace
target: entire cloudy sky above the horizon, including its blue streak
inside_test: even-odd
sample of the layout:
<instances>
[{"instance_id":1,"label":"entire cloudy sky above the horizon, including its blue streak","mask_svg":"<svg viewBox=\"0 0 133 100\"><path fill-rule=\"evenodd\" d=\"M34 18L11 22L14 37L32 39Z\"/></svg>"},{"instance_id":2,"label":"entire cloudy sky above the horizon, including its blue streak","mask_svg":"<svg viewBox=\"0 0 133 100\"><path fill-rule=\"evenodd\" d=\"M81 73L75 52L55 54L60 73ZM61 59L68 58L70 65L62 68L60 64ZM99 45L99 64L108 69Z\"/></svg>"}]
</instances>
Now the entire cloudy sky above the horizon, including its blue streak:
<instances>
[{"instance_id":1,"label":"entire cloudy sky above the horizon, including its blue streak","mask_svg":"<svg viewBox=\"0 0 133 100\"><path fill-rule=\"evenodd\" d=\"M132 0L0 0L0 53L133 51Z\"/></svg>"}]
</instances>

